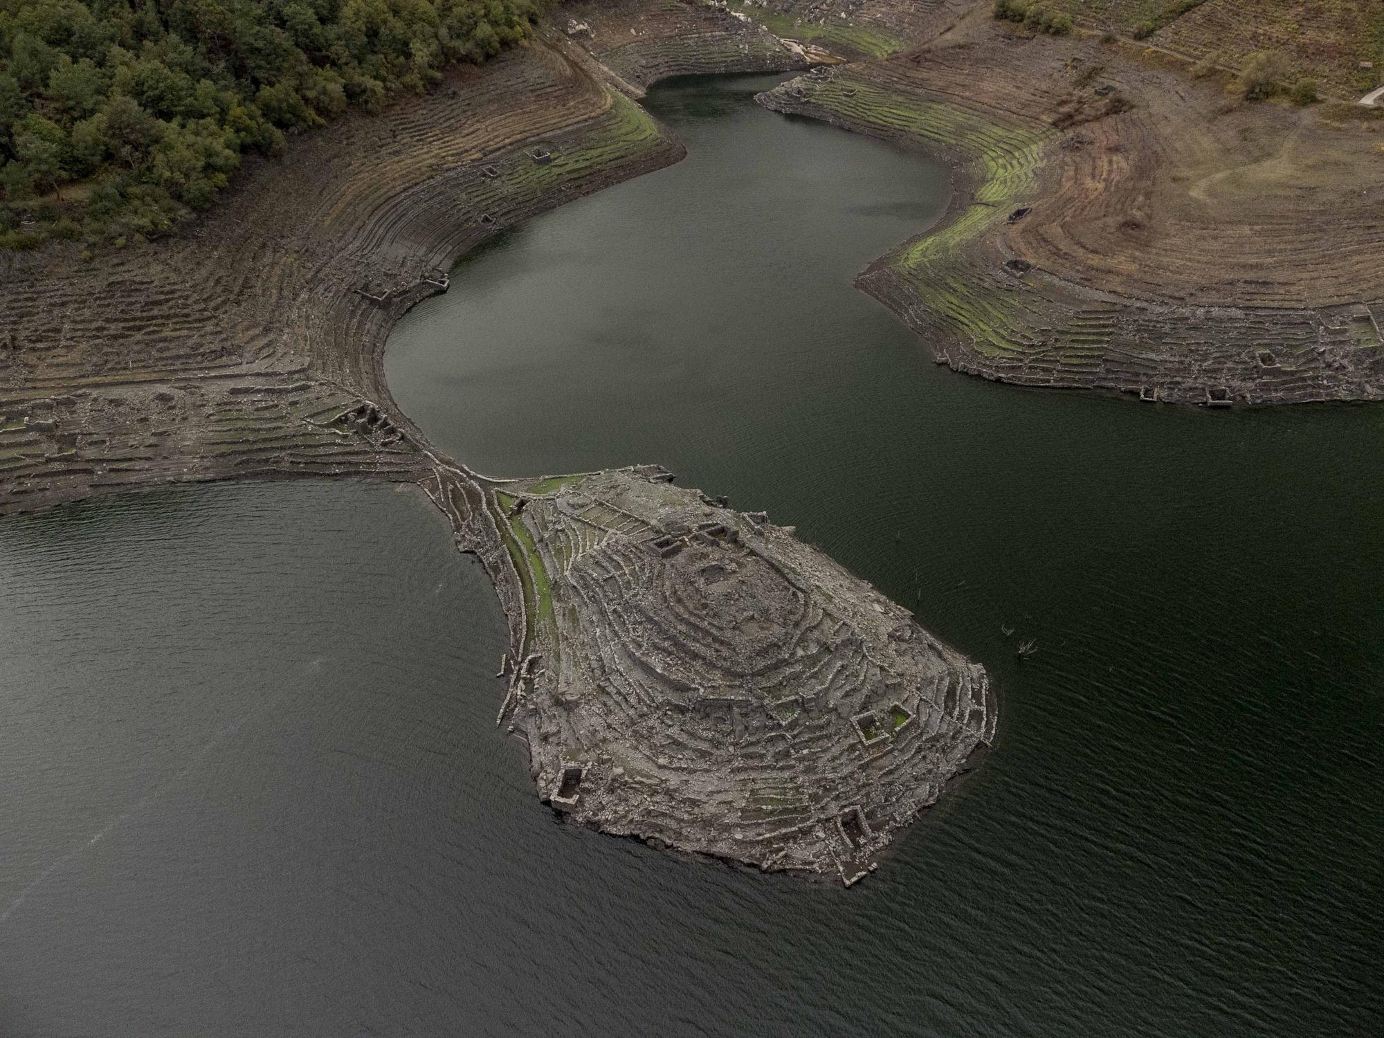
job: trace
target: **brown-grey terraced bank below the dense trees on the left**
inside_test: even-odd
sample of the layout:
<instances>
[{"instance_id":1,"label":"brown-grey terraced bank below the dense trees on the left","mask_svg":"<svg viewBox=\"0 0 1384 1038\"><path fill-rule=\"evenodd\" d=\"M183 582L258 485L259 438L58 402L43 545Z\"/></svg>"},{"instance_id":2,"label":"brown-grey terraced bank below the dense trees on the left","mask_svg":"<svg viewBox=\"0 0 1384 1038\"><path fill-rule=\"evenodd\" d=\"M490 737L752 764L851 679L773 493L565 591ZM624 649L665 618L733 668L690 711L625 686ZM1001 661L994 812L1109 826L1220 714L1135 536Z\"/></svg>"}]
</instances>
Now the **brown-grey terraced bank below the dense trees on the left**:
<instances>
[{"instance_id":1,"label":"brown-grey terraced bank below the dense trees on the left","mask_svg":"<svg viewBox=\"0 0 1384 1038\"><path fill-rule=\"evenodd\" d=\"M166 479L425 471L376 372L399 314L501 227L680 154L538 46L329 130L185 234L10 257L0 512Z\"/></svg>"}]
</instances>

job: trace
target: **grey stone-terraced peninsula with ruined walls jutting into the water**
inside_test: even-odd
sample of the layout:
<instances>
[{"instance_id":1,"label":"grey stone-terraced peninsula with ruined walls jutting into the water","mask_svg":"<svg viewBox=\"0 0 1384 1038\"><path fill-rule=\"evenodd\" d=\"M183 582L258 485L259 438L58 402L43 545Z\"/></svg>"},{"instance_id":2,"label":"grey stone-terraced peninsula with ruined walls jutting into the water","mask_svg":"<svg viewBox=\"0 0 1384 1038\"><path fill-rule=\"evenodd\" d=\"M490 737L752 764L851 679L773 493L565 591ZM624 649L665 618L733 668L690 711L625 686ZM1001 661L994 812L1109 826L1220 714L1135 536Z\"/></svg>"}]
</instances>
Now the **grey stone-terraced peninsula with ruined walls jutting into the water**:
<instances>
[{"instance_id":1,"label":"grey stone-terraced peninsula with ruined walls jutting into the water","mask_svg":"<svg viewBox=\"0 0 1384 1038\"><path fill-rule=\"evenodd\" d=\"M985 671L656 466L494 484L525 652L500 721L605 832L850 884L995 732Z\"/></svg>"}]
</instances>

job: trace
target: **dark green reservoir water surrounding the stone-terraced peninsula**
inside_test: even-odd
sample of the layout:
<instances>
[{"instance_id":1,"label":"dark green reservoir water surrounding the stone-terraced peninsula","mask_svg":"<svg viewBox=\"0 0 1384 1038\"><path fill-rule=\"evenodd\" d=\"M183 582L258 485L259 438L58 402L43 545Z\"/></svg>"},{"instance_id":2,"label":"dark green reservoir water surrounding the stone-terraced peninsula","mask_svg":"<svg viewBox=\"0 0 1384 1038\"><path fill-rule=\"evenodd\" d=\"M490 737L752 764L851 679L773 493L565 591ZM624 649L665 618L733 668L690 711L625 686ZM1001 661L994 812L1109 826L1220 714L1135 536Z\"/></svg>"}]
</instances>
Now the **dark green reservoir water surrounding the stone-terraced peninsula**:
<instances>
[{"instance_id":1,"label":"dark green reservoir water surrounding the stone-terraced peninsula","mask_svg":"<svg viewBox=\"0 0 1384 1038\"><path fill-rule=\"evenodd\" d=\"M0 1034L1384 1031L1384 410L933 365L851 277L945 170L770 82L650 91L688 159L468 257L390 385L477 471L796 523L990 667L983 767L848 891L653 851L537 801L419 494L10 518Z\"/></svg>"}]
</instances>

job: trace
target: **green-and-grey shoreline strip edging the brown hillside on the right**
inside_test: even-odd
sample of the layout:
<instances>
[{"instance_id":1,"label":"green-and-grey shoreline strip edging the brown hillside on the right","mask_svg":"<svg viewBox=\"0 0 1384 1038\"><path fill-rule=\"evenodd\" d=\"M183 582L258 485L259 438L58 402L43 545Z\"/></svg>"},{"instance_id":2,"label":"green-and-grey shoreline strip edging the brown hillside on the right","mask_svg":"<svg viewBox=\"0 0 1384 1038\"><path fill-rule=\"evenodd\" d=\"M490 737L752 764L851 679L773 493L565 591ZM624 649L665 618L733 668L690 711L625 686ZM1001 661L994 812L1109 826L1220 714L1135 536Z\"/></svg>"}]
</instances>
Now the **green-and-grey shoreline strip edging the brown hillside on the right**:
<instances>
[{"instance_id":1,"label":"green-and-grey shoreline strip edging the brown hillside on the right","mask_svg":"<svg viewBox=\"0 0 1384 1038\"><path fill-rule=\"evenodd\" d=\"M1052 129L985 123L945 98L890 91L851 68L801 76L758 100L951 161L958 195L944 219L871 263L857 285L955 371L1211 407L1384 399L1381 302L1138 299L1020 255L1005 231L1044 203L1041 163L1062 145Z\"/></svg>"}]
</instances>

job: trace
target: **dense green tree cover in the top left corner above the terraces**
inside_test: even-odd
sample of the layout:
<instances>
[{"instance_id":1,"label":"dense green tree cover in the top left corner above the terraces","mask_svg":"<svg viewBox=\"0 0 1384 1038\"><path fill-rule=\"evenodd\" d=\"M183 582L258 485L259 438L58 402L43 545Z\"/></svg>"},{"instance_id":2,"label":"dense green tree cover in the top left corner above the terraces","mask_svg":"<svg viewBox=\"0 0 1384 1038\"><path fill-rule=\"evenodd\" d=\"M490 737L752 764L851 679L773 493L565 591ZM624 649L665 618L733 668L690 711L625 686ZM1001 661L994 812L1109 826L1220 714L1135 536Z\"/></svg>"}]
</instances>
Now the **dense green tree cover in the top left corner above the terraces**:
<instances>
[{"instance_id":1,"label":"dense green tree cover in the top left corner above the terraces","mask_svg":"<svg viewBox=\"0 0 1384 1038\"><path fill-rule=\"evenodd\" d=\"M421 91L529 15L530 0L0 0L0 248L163 230L241 155Z\"/></svg>"}]
</instances>

